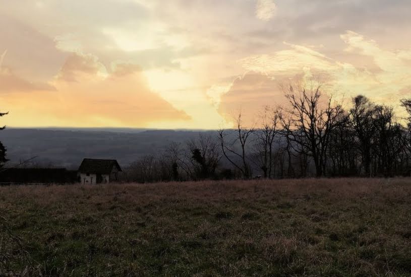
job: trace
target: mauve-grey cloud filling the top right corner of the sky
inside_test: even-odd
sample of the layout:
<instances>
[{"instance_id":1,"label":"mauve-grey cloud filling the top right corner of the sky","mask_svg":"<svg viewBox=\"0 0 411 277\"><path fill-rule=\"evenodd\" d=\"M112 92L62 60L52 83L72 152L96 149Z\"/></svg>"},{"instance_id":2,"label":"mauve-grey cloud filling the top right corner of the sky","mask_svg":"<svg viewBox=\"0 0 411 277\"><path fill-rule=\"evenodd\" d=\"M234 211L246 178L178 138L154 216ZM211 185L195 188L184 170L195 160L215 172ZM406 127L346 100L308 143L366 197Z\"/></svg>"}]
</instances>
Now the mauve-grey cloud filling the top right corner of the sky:
<instances>
[{"instance_id":1,"label":"mauve-grey cloud filling the top right corner of the sky","mask_svg":"<svg viewBox=\"0 0 411 277\"><path fill-rule=\"evenodd\" d=\"M279 11L276 19L246 35L318 45L346 30L378 38L378 34L411 23L411 2L405 0L277 0L276 3Z\"/></svg>"}]
</instances>

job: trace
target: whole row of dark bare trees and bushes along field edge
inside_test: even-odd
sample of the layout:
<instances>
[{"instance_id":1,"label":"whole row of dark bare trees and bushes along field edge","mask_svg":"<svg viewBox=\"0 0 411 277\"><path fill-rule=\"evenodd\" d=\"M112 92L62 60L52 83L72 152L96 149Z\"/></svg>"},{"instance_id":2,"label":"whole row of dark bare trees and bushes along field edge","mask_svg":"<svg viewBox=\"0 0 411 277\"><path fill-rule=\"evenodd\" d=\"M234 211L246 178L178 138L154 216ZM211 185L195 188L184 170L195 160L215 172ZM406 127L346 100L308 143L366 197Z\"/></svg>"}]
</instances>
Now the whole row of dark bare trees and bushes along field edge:
<instances>
[{"instance_id":1,"label":"whole row of dark bare trees and bushes along field edge","mask_svg":"<svg viewBox=\"0 0 411 277\"><path fill-rule=\"evenodd\" d=\"M265 107L259 123L217 130L164 153L144 156L127 170L128 181L229 178L393 177L411 173L411 99L407 118L364 95L348 108L320 85L283 89L287 105Z\"/></svg>"}]
</instances>

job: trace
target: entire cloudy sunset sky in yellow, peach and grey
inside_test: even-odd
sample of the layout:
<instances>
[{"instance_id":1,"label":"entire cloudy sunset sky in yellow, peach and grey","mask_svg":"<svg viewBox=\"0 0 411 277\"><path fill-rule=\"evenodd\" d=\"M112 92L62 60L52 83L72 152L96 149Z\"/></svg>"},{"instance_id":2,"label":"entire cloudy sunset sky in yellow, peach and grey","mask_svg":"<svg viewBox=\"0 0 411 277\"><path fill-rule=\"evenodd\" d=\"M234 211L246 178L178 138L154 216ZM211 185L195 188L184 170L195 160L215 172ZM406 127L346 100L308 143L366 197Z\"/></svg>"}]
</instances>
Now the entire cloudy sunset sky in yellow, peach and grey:
<instances>
[{"instance_id":1,"label":"entire cloudy sunset sky in yellow, peach and grey","mask_svg":"<svg viewBox=\"0 0 411 277\"><path fill-rule=\"evenodd\" d=\"M0 0L1 124L214 129L319 80L411 97L409 0Z\"/></svg>"}]
</instances>

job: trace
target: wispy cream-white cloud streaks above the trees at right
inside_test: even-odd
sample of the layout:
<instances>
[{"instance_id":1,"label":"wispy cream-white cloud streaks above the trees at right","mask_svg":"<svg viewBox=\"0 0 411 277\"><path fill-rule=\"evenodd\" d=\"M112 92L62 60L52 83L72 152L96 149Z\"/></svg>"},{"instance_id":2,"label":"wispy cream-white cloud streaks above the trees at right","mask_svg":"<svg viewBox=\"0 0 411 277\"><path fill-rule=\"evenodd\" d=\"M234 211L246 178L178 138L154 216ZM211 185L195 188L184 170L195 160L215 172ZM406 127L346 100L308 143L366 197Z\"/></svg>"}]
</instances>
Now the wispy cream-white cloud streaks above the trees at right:
<instances>
[{"instance_id":1,"label":"wispy cream-white cloud streaks above the trees at right","mask_svg":"<svg viewBox=\"0 0 411 277\"><path fill-rule=\"evenodd\" d=\"M238 62L246 71L267 74L278 80L296 75L305 79L324 79L322 82L326 82L327 92L341 98L361 93L373 101L397 108L399 99L409 93L411 62L407 57L411 56L411 51L385 49L376 41L352 31L342 34L341 39L345 43L345 51L357 54L360 64L362 57L364 64L367 57L371 57L379 70L372 72L367 67L358 67L309 47L288 43L285 43L288 49L249 56Z\"/></svg>"}]
</instances>

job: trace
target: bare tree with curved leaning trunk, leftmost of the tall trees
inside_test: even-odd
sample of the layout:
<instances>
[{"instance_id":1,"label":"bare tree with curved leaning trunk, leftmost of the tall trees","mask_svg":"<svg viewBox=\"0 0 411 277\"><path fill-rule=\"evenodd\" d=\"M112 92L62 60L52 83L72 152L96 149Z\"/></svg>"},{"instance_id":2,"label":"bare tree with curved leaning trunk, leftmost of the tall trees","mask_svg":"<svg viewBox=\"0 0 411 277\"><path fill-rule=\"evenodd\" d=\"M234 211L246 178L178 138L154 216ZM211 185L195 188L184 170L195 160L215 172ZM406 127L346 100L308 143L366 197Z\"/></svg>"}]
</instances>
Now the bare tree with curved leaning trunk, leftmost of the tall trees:
<instances>
[{"instance_id":1,"label":"bare tree with curved leaning trunk, leftmost of the tall trees","mask_svg":"<svg viewBox=\"0 0 411 277\"><path fill-rule=\"evenodd\" d=\"M243 126L241 112L239 112L235 120L236 129L219 129L217 131L218 139L224 157L241 172L244 179L248 179L251 177L251 168L248 162L246 147L255 129L254 126L250 128ZM239 147L240 149L238 149Z\"/></svg>"}]
</instances>

